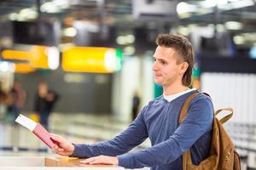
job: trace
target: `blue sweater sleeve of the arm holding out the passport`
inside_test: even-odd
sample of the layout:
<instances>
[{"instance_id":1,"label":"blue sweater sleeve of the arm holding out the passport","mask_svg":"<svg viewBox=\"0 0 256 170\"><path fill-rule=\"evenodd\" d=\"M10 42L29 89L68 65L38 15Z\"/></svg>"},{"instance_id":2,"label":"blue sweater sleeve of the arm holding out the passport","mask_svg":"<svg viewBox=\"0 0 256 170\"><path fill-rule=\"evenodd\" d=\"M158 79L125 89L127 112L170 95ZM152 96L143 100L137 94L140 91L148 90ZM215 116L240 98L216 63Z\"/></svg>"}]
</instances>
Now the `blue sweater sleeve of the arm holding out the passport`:
<instances>
[{"instance_id":1,"label":"blue sweater sleeve of the arm holding out the passport","mask_svg":"<svg viewBox=\"0 0 256 170\"><path fill-rule=\"evenodd\" d=\"M72 157L118 156L143 143L148 138L147 127L143 121L143 111L134 122L114 139L96 144L74 144Z\"/></svg>"}]
</instances>

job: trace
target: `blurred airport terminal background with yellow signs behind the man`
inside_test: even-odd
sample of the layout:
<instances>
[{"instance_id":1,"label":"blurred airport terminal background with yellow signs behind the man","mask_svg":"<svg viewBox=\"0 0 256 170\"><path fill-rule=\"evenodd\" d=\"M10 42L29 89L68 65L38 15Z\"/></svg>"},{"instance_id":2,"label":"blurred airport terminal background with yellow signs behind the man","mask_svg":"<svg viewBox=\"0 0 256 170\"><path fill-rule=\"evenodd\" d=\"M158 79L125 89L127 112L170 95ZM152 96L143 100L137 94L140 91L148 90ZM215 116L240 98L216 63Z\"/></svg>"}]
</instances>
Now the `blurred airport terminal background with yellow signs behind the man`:
<instances>
[{"instance_id":1,"label":"blurred airport terminal background with yellow signs behind the man","mask_svg":"<svg viewBox=\"0 0 256 170\"><path fill-rule=\"evenodd\" d=\"M20 114L74 144L129 127L163 94L152 71L160 33L192 43L190 88L215 111L233 108L224 127L241 169L256 169L255 0L0 0L0 159L56 156L15 122Z\"/></svg>"}]
</instances>

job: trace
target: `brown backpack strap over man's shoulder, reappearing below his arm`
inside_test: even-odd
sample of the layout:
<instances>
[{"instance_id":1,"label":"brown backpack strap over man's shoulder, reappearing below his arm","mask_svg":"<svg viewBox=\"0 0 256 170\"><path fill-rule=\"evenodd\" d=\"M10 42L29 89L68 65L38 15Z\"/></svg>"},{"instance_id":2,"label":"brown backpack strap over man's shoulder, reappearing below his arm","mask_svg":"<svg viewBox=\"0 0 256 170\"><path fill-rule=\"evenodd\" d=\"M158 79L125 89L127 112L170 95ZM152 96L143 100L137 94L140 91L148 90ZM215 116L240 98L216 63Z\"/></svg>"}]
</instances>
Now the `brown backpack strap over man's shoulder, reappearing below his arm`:
<instances>
[{"instance_id":1,"label":"brown backpack strap over man's shoulder, reappearing below his arm","mask_svg":"<svg viewBox=\"0 0 256 170\"><path fill-rule=\"evenodd\" d=\"M190 104L191 100L194 99L198 94L200 94L200 93L195 92L194 94L190 94L189 97L185 100L185 102L183 103L182 110L179 115L178 124L183 122L185 116L187 115L187 111L188 111L189 104ZM192 164L190 150L186 151L183 154L183 170L187 169L188 164Z\"/></svg>"}]
</instances>

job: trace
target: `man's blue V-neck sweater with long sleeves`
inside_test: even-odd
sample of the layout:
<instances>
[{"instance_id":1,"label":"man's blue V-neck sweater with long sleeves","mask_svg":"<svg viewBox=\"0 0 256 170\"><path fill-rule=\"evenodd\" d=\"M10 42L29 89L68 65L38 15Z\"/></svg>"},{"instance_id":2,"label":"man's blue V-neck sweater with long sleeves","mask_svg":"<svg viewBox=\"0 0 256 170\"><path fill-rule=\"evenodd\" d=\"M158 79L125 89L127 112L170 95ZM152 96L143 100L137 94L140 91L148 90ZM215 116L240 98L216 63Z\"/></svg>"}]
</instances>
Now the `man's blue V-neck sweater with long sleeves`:
<instances>
[{"instance_id":1,"label":"man's blue V-neck sweater with long sleeves","mask_svg":"<svg viewBox=\"0 0 256 170\"><path fill-rule=\"evenodd\" d=\"M154 99L119 136L97 144L75 144L73 156L118 156L121 167L181 170L182 155L191 148L192 161L198 165L209 154L213 107L207 95L199 94L191 101L187 116L178 126L183 102L194 92L183 94L171 102L163 96ZM147 138L151 147L128 152Z\"/></svg>"}]
</instances>

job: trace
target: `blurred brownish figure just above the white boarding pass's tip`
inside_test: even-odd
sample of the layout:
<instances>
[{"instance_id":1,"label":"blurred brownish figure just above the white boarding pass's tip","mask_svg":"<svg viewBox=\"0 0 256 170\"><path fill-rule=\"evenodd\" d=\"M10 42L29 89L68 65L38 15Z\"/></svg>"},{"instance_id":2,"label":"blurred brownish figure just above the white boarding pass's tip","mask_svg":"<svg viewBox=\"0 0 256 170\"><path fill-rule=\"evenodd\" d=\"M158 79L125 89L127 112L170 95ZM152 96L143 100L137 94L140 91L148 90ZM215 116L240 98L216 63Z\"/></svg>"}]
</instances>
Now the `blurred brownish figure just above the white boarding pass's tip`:
<instances>
[{"instance_id":1,"label":"blurred brownish figure just above the white boarding pass's tip","mask_svg":"<svg viewBox=\"0 0 256 170\"><path fill-rule=\"evenodd\" d=\"M15 80L8 93L8 98L8 122L14 122L26 102L26 91L19 81Z\"/></svg>"}]
</instances>

